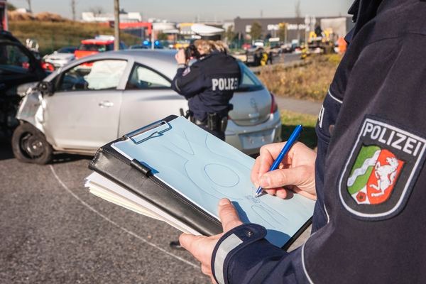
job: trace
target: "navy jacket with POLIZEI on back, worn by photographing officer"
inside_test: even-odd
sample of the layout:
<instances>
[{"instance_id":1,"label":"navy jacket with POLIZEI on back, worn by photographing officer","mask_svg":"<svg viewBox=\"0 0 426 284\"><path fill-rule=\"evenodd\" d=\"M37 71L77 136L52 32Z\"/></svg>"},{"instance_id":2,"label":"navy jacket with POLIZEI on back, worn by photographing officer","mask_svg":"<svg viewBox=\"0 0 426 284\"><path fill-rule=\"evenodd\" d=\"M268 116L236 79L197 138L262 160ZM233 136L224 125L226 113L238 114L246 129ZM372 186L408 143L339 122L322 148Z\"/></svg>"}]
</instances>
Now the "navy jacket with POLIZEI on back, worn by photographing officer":
<instances>
[{"instance_id":1,"label":"navy jacket with POLIZEI on back, worn by photographing officer","mask_svg":"<svg viewBox=\"0 0 426 284\"><path fill-rule=\"evenodd\" d=\"M196 119L204 121L208 112L228 114L234 91L239 86L240 69L236 60L224 53L213 52L190 67L181 67L172 89L188 100Z\"/></svg>"}]
</instances>

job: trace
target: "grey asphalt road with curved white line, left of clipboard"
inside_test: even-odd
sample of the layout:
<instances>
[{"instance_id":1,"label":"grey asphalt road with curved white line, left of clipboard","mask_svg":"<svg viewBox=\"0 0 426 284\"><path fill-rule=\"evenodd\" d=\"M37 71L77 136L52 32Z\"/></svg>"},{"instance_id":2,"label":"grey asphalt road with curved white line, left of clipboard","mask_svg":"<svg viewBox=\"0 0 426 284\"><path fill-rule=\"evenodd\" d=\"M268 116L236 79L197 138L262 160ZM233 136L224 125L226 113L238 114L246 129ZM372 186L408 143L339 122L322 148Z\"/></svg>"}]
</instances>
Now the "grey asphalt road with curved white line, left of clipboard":
<instances>
[{"instance_id":1,"label":"grey asphalt road with curved white line, left of clipboard","mask_svg":"<svg viewBox=\"0 0 426 284\"><path fill-rule=\"evenodd\" d=\"M20 163L0 144L0 283L210 283L179 231L84 188L89 157Z\"/></svg>"}]
</instances>

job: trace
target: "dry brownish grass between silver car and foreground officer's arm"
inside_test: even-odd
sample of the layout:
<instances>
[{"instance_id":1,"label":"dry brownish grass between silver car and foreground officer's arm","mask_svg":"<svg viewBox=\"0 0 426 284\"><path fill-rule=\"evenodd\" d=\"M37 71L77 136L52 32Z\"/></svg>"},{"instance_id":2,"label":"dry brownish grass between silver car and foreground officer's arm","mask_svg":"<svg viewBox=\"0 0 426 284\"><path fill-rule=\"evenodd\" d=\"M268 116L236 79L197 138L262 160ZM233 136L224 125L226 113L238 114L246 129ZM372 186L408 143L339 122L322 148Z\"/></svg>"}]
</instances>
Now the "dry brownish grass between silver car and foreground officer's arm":
<instances>
[{"instance_id":1,"label":"dry brownish grass between silver car and foreground officer's arm","mask_svg":"<svg viewBox=\"0 0 426 284\"><path fill-rule=\"evenodd\" d=\"M262 69L258 77L277 96L322 102L340 60L338 54L312 55L305 65L275 65Z\"/></svg>"}]
</instances>

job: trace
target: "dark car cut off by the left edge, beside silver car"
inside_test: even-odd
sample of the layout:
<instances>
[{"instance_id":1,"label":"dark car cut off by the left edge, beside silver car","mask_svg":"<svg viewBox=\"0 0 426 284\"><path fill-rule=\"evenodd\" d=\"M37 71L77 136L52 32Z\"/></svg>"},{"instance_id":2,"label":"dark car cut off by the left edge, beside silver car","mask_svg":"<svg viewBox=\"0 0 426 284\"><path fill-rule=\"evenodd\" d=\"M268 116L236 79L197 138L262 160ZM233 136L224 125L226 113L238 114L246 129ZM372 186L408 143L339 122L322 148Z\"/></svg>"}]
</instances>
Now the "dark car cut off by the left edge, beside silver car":
<instances>
[{"instance_id":1,"label":"dark car cut off by the left edge, beside silver car","mask_svg":"<svg viewBox=\"0 0 426 284\"><path fill-rule=\"evenodd\" d=\"M0 137L10 138L18 126L15 119L21 101L21 84L46 77L40 60L8 31L0 31ZM28 89L24 87L24 89Z\"/></svg>"}]
</instances>

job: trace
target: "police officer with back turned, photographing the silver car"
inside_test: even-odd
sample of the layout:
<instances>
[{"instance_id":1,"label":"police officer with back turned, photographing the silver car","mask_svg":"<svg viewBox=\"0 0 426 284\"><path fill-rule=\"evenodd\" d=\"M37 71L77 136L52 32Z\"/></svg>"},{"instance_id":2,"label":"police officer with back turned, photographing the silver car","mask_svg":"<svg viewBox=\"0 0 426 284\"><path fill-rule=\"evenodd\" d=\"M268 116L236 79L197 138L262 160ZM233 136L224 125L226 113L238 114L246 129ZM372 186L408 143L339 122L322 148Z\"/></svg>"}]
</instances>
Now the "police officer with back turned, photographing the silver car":
<instances>
[{"instance_id":1,"label":"police officer with back turned, photographing the silver car","mask_svg":"<svg viewBox=\"0 0 426 284\"><path fill-rule=\"evenodd\" d=\"M185 50L175 55L179 67L172 88L188 100L192 122L225 140L228 112L232 109L229 100L241 77L239 65L221 43L195 40L194 45L198 54L192 65L188 65L190 58Z\"/></svg>"}]
</instances>

